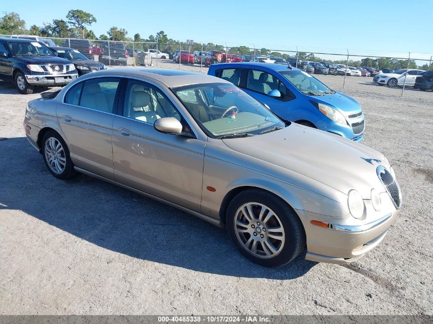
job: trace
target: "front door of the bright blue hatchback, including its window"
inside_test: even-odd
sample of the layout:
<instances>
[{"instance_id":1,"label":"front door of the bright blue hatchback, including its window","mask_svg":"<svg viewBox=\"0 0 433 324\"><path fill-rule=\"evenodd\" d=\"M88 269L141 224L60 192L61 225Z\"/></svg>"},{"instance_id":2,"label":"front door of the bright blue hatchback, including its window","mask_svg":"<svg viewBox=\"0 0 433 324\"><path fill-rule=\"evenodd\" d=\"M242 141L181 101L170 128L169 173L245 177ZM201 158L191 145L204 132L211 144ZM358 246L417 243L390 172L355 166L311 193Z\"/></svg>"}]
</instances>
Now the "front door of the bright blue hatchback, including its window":
<instances>
[{"instance_id":1,"label":"front door of the bright blue hatchback, including its window","mask_svg":"<svg viewBox=\"0 0 433 324\"><path fill-rule=\"evenodd\" d=\"M287 120L290 96L284 83L275 75L257 69L248 69L245 71L241 88L261 103L269 106L278 117ZM267 95L271 90L279 90L282 96L276 98Z\"/></svg>"}]
</instances>

